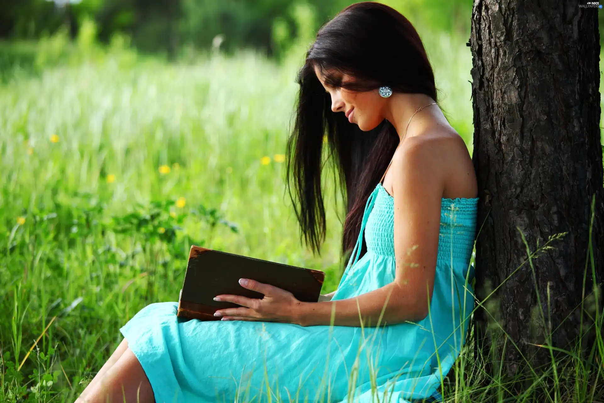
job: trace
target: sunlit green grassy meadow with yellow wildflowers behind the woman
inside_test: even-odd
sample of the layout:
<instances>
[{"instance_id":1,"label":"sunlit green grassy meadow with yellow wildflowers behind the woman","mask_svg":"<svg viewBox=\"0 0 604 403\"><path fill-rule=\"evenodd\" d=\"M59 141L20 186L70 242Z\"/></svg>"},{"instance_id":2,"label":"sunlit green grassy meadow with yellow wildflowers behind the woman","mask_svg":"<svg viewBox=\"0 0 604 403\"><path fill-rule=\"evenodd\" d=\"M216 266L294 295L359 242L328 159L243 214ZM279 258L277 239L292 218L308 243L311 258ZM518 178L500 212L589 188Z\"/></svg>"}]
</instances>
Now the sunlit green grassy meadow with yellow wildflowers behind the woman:
<instances>
[{"instance_id":1,"label":"sunlit green grassy meadow with yellow wildflowers behind the woman","mask_svg":"<svg viewBox=\"0 0 604 403\"><path fill-rule=\"evenodd\" d=\"M423 39L471 150L467 39ZM322 293L335 290L332 175L321 256L300 242L284 187L304 44L280 63L253 51L167 63L80 43L50 63L68 46L53 40L40 68L0 83L0 401L73 401L129 318L178 300L191 244L320 269Z\"/></svg>"}]
</instances>

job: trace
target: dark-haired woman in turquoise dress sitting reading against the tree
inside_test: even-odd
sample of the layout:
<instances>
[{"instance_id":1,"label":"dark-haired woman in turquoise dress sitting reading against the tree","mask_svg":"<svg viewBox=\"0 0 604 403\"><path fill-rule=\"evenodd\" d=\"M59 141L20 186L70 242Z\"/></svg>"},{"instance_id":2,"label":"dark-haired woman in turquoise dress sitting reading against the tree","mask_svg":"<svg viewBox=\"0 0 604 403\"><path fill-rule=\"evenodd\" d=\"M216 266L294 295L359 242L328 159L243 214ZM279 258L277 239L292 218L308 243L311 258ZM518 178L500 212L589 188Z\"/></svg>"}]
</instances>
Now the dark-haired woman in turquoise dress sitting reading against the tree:
<instances>
[{"instance_id":1,"label":"dark-haired woman in turquoise dress sitting reading against the tree","mask_svg":"<svg viewBox=\"0 0 604 403\"><path fill-rule=\"evenodd\" d=\"M370 402L372 389L379 401L441 399L474 308L478 199L422 42L396 10L356 3L318 32L298 83L288 185L293 173L298 221L318 251L326 134L349 200L338 289L301 303L240 281L265 297L217 295L241 305L221 321L178 321L176 303L151 304L79 402L263 402L268 387L275 401Z\"/></svg>"}]
</instances>

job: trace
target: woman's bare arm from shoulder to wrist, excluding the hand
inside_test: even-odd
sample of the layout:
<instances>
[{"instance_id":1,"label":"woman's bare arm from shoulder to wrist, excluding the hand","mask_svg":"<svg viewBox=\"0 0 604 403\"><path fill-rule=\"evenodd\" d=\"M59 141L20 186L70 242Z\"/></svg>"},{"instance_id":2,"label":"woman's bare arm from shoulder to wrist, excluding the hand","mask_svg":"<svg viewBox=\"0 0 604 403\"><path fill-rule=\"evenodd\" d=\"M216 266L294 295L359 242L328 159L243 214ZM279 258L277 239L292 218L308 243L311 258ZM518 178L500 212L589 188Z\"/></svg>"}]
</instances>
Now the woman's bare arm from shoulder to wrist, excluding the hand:
<instances>
[{"instance_id":1,"label":"woman's bare arm from shoulder to wrist, excluding the hand","mask_svg":"<svg viewBox=\"0 0 604 403\"><path fill-rule=\"evenodd\" d=\"M428 315L439 246L443 170L440 150L429 141L410 138L393 163L395 276L390 284L336 301L296 303L292 311L301 326L379 326L420 321ZM402 165L402 166L401 166ZM383 314L382 314L382 311Z\"/></svg>"}]
</instances>

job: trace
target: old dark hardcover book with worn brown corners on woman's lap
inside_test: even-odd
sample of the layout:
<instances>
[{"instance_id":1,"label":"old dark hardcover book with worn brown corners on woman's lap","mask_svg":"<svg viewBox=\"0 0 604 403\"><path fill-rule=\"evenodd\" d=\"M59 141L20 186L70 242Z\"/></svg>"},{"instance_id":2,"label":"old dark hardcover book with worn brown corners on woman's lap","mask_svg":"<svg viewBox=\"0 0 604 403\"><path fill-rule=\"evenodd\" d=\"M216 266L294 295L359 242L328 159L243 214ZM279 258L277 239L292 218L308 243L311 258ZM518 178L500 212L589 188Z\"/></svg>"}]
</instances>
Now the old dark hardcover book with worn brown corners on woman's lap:
<instances>
[{"instance_id":1,"label":"old dark hardcover book with worn brown corners on woman's lap","mask_svg":"<svg viewBox=\"0 0 604 403\"><path fill-rule=\"evenodd\" d=\"M239 279L274 285L291 292L297 300L316 302L321 294L325 273L193 245L176 315L187 319L220 320L220 317L214 316L214 312L218 309L237 308L240 305L228 301L214 301L216 295L264 297L260 292L243 288Z\"/></svg>"}]
</instances>

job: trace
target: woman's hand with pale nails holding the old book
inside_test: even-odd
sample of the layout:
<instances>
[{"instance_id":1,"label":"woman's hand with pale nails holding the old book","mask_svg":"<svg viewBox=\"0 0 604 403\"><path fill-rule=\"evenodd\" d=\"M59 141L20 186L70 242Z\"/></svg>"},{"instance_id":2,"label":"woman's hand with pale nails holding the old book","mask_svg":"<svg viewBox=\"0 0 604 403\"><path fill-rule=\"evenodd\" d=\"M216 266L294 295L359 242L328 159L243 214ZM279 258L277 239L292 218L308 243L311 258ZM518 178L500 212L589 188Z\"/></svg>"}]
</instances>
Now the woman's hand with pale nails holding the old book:
<instances>
[{"instance_id":1,"label":"woman's hand with pale nails holding the old book","mask_svg":"<svg viewBox=\"0 0 604 403\"><path fill-rule=\"evenodd\" d=\"M294 294L255 280L240 279L239 284L243 288L264 294L264 298L248 298L243 297L243 295L228 294L216 295L214 301L228 301L242 306L219 309L214 316L222 316L222 320L297 323L296 310L301 302L294 297Z\"/></svg>"}]
</instances>

